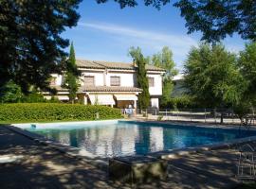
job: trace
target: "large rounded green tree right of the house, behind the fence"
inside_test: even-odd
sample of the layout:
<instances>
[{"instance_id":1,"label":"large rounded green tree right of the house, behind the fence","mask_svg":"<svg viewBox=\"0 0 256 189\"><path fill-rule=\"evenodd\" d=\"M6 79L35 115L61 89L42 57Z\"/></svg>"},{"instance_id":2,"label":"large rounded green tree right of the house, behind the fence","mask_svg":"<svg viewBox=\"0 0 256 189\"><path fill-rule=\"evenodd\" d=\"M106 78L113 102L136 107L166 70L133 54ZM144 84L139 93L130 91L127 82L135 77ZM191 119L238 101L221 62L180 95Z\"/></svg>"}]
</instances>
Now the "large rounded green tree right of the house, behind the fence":
<instances>
[{"instance_id":1,"label":"large rounded green tree right of the house, behind the fence","mask_svg":"<svg viewBox=\"0 0 256 189\"><path fill-rule=\"evenodd\" d=\"M227 108L238 104L247 88L236 56L221 44L193 47L185 62L185 85L202 106Z\"/></svg>"}]
</instances>

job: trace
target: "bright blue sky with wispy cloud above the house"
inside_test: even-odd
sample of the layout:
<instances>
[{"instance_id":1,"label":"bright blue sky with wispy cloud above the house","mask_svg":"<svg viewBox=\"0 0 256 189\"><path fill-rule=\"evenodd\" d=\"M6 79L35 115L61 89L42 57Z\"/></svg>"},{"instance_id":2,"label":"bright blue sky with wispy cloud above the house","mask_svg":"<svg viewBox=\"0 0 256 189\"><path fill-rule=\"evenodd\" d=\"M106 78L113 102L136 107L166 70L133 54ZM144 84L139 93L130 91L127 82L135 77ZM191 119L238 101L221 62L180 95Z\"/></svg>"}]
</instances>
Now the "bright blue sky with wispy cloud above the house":
<instances>
[{"instance_id":1,"label":"bright blue sky with wispy cloud above the house","mask_svg":"<svg viewBox=\"0 0 256 189\"><path fill-rule=\"evenodd\" d=\"M97 4L95 0L83 0L78 11L78 26L63 33L74 43L77 59L130 62L131 46L139 46L144 55L151 56L166 45L182 70L190 48L201 38L200 33L187 34L185 20L171 4L160 10L142 3L136 8L119 9L119 4L112 1ZM230 51L238 52L245 42L234 35L223 43Z\"/></svg>"}]
</instances>

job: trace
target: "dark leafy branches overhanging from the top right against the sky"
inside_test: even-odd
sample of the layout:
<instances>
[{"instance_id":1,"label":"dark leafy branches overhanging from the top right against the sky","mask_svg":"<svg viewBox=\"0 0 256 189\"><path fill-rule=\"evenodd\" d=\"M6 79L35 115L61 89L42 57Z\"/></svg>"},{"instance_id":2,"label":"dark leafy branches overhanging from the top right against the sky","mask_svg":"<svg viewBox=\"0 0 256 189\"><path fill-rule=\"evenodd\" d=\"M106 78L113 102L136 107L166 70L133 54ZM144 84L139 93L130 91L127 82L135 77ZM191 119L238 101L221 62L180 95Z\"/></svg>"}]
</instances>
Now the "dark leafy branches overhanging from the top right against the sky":
<instances>
[{"instance_id":1,"label":"dark leafy branches overhanging from the top right against the sky","mask_svg":"<svg viewBox=\"0 0 256 189\"><path fill-rule=\"evenodd\" d=\"M97 0L105 3L108 0ZM120 8L136 7L137 0L115 0ZM160 9L171 0L144 0L146 6ZM256 41L256 1L255 0L178 0L174 7L180 9L186 20L188 33L201 31L202 40L218 42L227 35L238 33L245 40Z\"/></svg>"}]
</instances>

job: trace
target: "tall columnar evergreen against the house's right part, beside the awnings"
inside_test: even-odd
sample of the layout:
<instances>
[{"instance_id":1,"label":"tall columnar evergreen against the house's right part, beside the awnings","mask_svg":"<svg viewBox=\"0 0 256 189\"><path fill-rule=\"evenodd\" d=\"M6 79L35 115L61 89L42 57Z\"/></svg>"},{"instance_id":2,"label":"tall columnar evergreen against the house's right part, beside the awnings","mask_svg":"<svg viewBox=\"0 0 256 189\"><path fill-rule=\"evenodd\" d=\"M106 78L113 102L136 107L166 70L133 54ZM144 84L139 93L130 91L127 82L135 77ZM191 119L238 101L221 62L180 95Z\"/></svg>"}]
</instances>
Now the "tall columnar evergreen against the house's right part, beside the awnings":
<instances>
[{"instance_id":1,"label":"tall columnar evergreen against the house's right part, beside the awnings","mask_svg":"<svg viewBox=\"0 0 256 189\"><path fill-rule=\"evenodd\" d=\"M138 108L147 109L150 105L150 94L149 82L145 66L149 59L144 58L139 47L131 47L129 54L137 65L137 87L143 90L140 94L138 94Z\"/></svg>"}]
</instances>

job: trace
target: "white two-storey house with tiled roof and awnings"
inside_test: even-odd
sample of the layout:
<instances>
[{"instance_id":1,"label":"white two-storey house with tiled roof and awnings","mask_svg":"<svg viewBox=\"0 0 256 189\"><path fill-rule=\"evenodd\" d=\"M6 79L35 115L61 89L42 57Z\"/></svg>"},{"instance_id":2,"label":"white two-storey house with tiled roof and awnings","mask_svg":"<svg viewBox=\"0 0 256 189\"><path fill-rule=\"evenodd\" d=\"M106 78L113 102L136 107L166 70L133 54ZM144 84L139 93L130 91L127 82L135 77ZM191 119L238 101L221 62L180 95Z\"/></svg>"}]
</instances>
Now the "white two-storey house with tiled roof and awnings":
<instances>
[{"instance_id":1,"label":"white two-storey house with tiled roof and awnings","mask_svg":"<svg viewBox=\"0 0 256 189\"><path fill-rule=\"evenodd\" d=\"M133 63L107 62L94 60L76 60L78 68L82 71L80 89L77 99L84 104L108 105L111 107L137 108L137 66ZM158 99L162 95L162 75L165 71L152 65L146 65L149 80L149 93L151 107L158 108ZM56 88L56 97L68 100L68 92L62 88L64 77L52 75L51 86ZM46 98L51 95L44 93Z\"/></svg>"}]
</instances>

